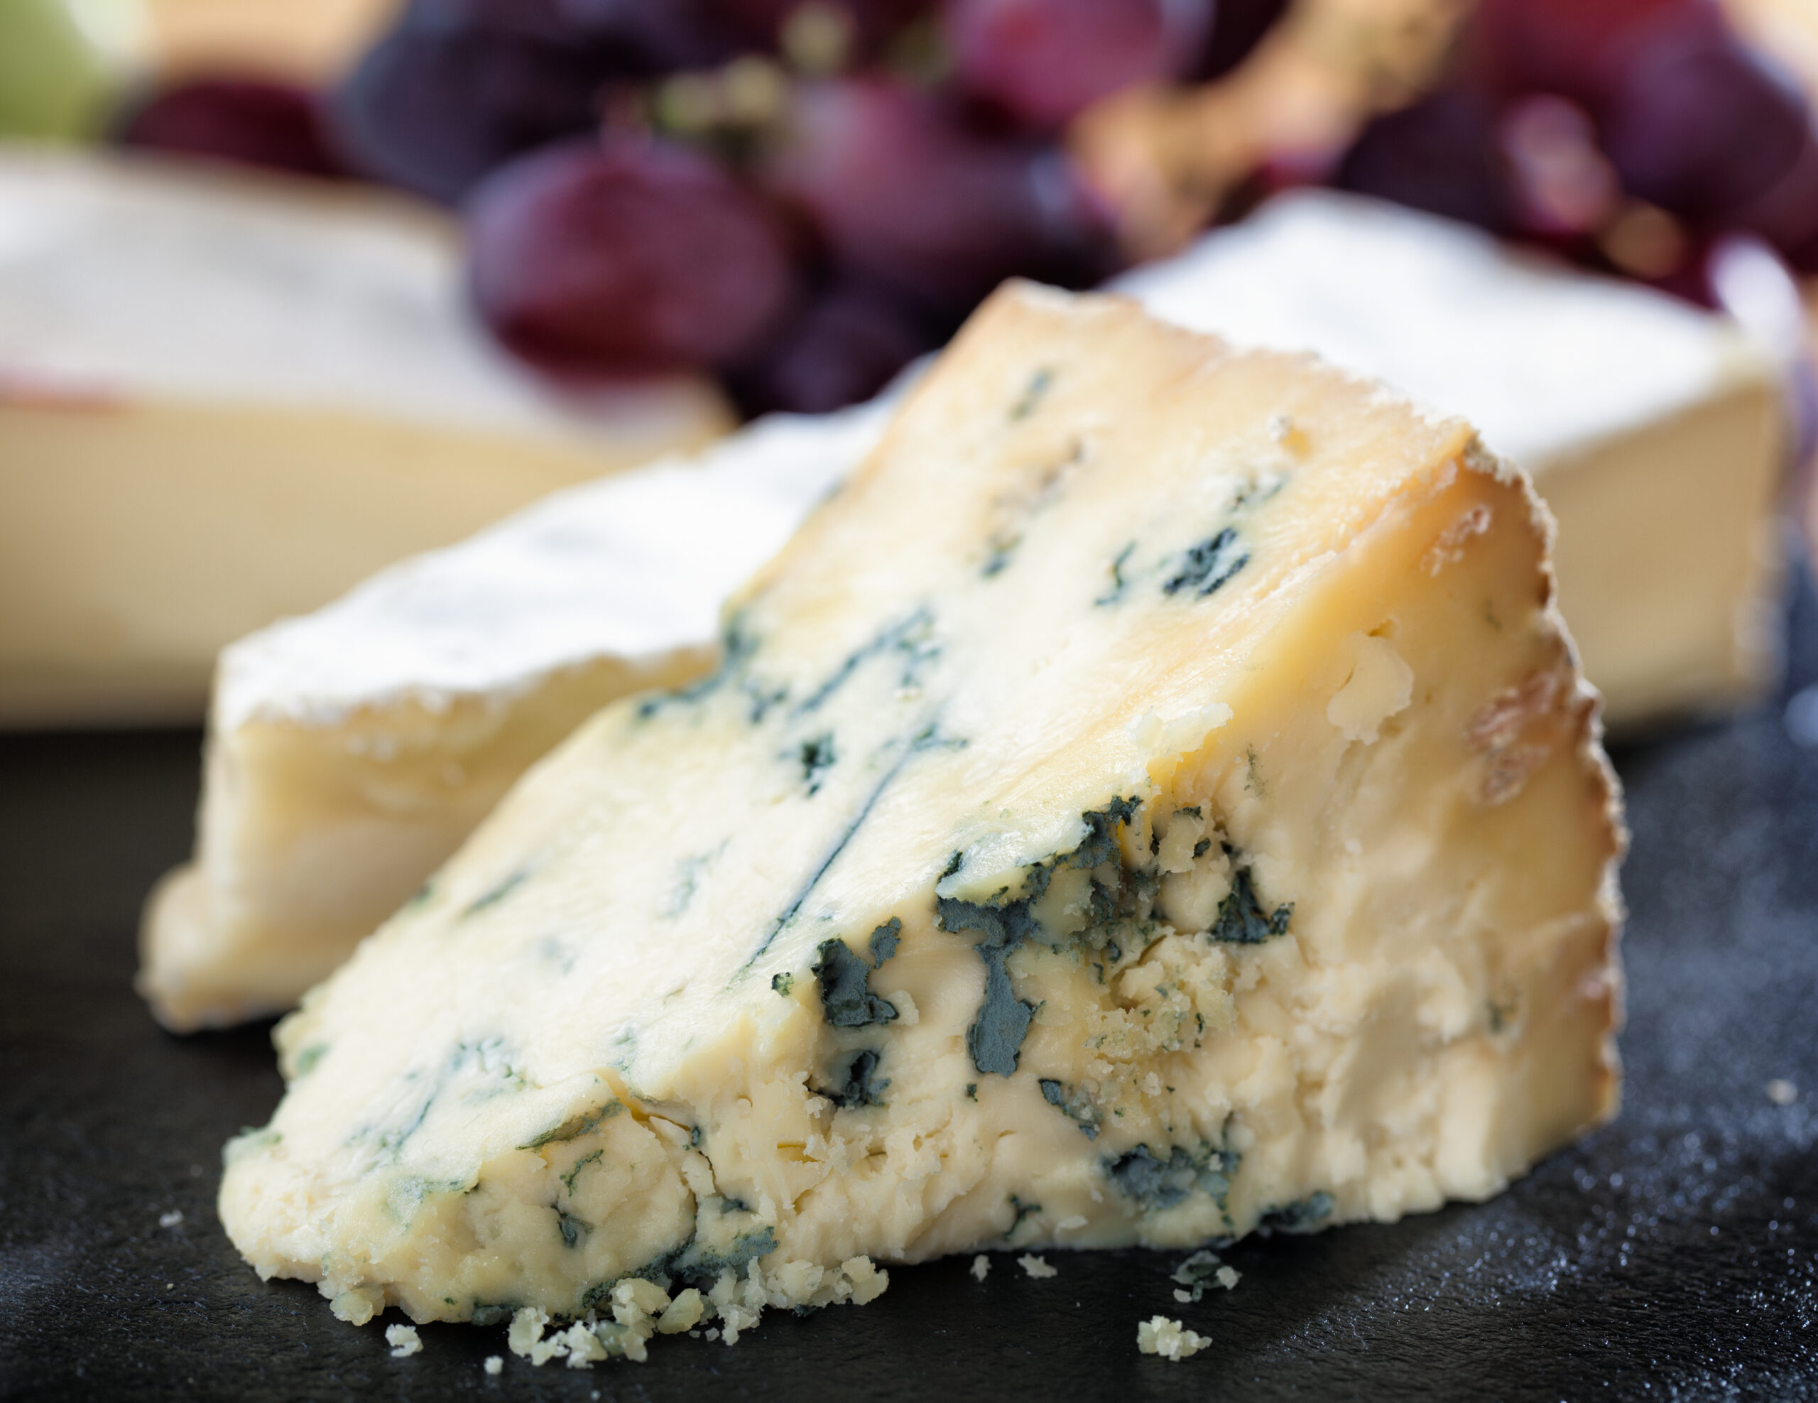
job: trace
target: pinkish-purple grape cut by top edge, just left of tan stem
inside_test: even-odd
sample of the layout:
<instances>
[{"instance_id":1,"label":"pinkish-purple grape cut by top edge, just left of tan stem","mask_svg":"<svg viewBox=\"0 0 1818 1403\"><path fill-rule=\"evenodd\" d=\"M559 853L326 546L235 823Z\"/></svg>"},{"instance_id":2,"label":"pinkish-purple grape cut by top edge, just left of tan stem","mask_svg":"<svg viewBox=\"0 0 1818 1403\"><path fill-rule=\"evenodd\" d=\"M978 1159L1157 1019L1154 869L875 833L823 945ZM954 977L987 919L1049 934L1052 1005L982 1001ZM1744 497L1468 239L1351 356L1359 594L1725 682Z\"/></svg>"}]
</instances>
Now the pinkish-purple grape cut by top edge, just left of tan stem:
<instances>
[{"instance_id":1,"label":"pinkish-purple grape cut by top edge, just left of tan stem","mask_svg":"<svg viewBox=\"0 0 1818 1403\"><path fill-rule=\"evenodd\" d=\"M960 82L1047 131L1138 82L1187 73L1213 0L945 0Z\"/></svg>"}]
</instances>

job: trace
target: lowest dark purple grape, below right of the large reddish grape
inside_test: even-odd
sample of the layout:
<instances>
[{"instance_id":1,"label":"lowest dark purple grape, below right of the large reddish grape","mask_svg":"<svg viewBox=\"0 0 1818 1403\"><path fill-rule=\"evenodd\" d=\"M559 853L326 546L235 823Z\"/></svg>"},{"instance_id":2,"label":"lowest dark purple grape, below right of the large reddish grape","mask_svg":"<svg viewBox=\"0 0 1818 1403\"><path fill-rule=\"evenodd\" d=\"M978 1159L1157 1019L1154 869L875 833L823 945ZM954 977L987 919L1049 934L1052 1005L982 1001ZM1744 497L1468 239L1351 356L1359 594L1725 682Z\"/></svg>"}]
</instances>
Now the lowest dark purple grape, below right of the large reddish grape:
<instances>
[{"instance_id":1,"label":"lowest dark purple grape, below right of the large reddish grape","mask_svg":"<svg viewBox=\"0 0 1818 1403\"><path fill-rule=\"evenodd\" d=\"M936 340L898 298L840 282L733 375L733 391L745 413L829 413L876 395Z\"/></svg>"}]
</instances>

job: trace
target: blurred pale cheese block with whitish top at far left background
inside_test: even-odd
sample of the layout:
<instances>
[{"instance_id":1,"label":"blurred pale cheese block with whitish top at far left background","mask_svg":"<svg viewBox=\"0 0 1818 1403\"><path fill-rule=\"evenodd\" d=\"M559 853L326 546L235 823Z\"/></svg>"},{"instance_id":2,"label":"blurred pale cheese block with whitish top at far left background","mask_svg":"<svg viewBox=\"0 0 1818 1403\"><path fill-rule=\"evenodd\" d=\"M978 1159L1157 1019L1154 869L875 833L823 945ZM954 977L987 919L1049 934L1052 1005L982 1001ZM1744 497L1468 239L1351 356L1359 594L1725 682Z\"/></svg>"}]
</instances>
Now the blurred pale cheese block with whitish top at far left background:
<instances>
[{"instance_id":1,"label":"blurred pale cheese block with whitish top at far left background","mask_svg":"<svg viewBox=\"0 0 1818 1403\"><path fill-rule=\"evenodd\" d=\"M0 726L200 719L229 641L727 424L513 366L415 204L0 147Z\"/></svg>"}]
</instances>

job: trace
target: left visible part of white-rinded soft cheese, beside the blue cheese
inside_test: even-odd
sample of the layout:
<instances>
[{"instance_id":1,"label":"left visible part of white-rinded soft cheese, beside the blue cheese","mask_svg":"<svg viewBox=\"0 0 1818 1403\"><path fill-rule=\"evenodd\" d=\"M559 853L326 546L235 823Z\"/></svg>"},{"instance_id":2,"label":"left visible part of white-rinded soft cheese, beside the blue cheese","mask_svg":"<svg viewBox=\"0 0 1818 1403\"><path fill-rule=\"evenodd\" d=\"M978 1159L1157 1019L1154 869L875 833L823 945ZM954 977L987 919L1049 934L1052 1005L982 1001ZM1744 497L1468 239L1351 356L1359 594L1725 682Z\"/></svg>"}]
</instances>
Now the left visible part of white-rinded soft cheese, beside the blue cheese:
<instances>
[{"instance_id":1,"label":"left visible part of white-rinded soft cheese, beside the blue cheese","mask_svg":"<svg viewBox=\"0 0 1818 1403\"><path fill-rule=\"evenodd\" d=\"M198 855L147 908L138 983L158 1017L289 1008L582 719L705 673L727 593L882 419L780 415L558 491L227 648Z\"/></svg>"}]
</instances>

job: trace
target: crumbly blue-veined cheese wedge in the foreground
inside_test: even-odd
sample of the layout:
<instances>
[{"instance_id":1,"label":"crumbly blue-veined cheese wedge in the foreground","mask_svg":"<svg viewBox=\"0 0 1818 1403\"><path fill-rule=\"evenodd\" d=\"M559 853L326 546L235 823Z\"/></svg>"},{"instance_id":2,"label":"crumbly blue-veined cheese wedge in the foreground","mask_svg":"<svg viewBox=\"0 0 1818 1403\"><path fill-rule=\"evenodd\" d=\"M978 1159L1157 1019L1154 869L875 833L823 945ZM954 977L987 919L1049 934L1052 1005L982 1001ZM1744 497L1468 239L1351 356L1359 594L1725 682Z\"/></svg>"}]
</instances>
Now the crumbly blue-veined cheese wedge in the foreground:
<instances>
[{"instance_id":1,"label":"crumbly blue-veined cheese wedge in the foreground","mask_svg":"<svg viewBox=\"0 0 1818 1403\"><path fill-rule=\"evenodd\" d=\"M1616 1101L1547 535L1460 420L1000 291L720 668L594 715L280 1024L222 1221L345 1319L585 1361L876 1259L1494 1194Z\"/></svg>"}]
</instances>

